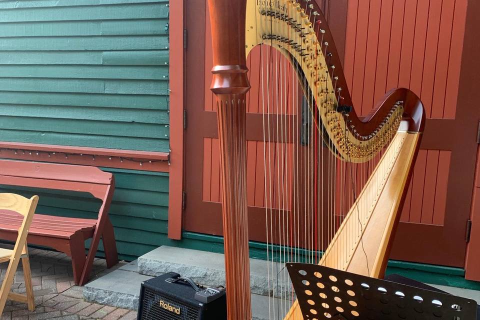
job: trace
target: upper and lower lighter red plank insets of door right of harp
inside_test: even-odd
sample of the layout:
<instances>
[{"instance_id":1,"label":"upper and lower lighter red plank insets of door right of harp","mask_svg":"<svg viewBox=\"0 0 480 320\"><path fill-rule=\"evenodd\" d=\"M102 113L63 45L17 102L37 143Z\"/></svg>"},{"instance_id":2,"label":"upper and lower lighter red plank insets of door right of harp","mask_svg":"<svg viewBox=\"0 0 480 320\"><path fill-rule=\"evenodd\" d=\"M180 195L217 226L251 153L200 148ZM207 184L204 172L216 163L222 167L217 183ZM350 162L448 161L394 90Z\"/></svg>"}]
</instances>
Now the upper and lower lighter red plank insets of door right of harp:
<instances>
[{"instance_id":1,"label":"upper and lower lighter red plank insets of door right of harp","mask_svg":"<svg viewBox=\"0 0 480 320\"><path fill-rule=\"evenodd\" d=\"M466 0L348 0L344 72L366 115L384 92L407 87L428 118L455 117ZM401 221L443 224L448 150L420 150Z\"/></svg>"}]
</instances>

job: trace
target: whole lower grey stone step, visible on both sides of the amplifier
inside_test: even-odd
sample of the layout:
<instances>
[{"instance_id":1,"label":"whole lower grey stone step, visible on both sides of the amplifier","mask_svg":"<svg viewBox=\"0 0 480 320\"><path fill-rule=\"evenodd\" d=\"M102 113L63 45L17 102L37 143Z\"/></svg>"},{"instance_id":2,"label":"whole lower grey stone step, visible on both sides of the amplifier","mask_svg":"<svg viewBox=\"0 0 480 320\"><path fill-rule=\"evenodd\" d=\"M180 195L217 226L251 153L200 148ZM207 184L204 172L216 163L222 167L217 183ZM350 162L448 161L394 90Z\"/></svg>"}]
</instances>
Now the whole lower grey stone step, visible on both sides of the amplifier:
<instances>
[{"instance_id":1,"label":"whole lower grey stone step, visible on both sides of the amplifier","mask_svg":"<svg viewBox=\"0 0 480 320\"><path fill-rule=\"evenodd\" d=\"M133 261L87 283L83 287L83 298L95 303L137 310L140 284L151 276L138 273L136 267L136 261ZM276 318L279 312L285 313L290 305L285 300L254 293L251 301L253 320L268 320L273 312Z\"/></svg>"}]
</instances>

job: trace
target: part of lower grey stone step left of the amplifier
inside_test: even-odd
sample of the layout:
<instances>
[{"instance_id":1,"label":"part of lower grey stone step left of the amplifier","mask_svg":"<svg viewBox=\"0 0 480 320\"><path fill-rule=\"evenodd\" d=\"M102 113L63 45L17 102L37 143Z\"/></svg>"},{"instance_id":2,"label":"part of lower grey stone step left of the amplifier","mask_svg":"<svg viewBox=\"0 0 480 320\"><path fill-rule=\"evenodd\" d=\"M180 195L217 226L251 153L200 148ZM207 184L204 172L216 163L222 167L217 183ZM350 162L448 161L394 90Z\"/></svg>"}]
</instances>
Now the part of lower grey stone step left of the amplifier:
<instances>
[{"instance_id":1,"label":"part of lower grey stone step left of the amplifier","mask_svg":"<svg viewBox=\"0 0 480 320\"><path fill-rule=\"evenodd\" d=\"M83 298L87 301L136 310L141 282L151 276L117 269L91 281L83 287Z\"/></svg>"}]
</instances>

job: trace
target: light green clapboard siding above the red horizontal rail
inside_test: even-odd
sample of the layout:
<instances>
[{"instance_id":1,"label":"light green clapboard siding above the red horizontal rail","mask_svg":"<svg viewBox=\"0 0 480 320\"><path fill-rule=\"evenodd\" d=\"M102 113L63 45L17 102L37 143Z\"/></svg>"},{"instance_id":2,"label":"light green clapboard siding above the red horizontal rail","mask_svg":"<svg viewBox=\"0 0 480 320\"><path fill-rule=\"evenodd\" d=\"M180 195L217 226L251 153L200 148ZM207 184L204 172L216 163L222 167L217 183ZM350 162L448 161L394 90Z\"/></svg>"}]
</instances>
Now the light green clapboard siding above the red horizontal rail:
<instances>
[{"instance_id":1,"label":"light green clapboard siding above the red horizontal rail","mask_svg":"<svg viewBox=\"0 0 480 320\"><path fill-rule=\"evenodd\" d=\"M168 0L0 1L0 141L168 151Z\"/></svg>"}]
</instances>

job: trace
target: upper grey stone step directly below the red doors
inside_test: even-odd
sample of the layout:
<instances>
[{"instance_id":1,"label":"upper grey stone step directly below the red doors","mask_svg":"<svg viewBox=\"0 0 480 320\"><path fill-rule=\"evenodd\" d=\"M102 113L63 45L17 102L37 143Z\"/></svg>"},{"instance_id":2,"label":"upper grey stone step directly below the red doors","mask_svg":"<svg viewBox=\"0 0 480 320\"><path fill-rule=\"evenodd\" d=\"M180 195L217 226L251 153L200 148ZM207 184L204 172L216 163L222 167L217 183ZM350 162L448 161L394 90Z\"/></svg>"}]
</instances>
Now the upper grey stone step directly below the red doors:
<instances>
[{"instance_id":1,"label":"upper grey stone step directly below the red doors","mask_svg":"<svg viewBox=\"0 0 480 320\"><path fill-rule=\"evenodd\" d=\"M138 258L138 271L151 276L173 271L204 285L225 285L224 259L221 253L163 245ZM275 276L272 277L272 274ZM273 282L275 285L272 285ZM285 295L289 291L288 287L281 285L285 283L289 283L289 278L282 263L250 259L252 293Z\"/></svg>"}]
</instances>

